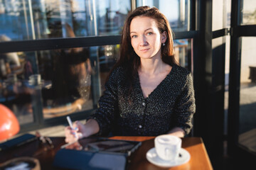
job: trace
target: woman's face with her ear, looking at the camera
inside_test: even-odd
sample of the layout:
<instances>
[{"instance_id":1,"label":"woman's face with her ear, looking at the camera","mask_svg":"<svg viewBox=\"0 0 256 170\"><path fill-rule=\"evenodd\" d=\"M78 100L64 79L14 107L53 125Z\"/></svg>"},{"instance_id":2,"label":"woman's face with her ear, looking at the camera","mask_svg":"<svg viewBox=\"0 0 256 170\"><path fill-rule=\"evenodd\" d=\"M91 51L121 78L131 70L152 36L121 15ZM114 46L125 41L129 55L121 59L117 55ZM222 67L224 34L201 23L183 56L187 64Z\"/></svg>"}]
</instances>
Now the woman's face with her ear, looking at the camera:
<instances>
[{"instance_id":1,"label":"woman's face with her ear, looking at the camera","mask_svg":"<svg viewBox=\"0 0 256 170\"><path fill-rule=\"evenodd\" d=\"M161 43L166 42L166 32L160 33L153 18L137 16L130 25L130 37L134 51L141 59L161 57Z\"/></svg>"}]
</instances>

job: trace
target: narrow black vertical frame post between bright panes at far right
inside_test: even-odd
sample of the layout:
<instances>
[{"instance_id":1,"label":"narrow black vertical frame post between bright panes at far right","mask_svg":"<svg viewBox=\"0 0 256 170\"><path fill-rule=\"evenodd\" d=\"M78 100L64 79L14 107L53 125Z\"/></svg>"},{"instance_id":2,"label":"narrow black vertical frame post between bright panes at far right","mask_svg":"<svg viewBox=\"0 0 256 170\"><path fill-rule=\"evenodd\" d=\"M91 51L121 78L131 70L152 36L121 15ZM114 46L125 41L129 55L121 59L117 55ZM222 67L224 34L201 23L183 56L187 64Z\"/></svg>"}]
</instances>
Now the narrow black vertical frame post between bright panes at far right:
<instances>
[{"instance_id":1,"label":"narrow black vertical frame post between bright panes at far right","mask_svg":"<svg viewBox=\"0 0 256 170\"><path fill-rule=\"evenodd\" d=\"M228 96L228 154L234 155L238 143L239 110L240 110L240 38L238 37L239 23L238 1L231 4L231 29L230 29L230 74Z\"/></svg>"}]
</instances>

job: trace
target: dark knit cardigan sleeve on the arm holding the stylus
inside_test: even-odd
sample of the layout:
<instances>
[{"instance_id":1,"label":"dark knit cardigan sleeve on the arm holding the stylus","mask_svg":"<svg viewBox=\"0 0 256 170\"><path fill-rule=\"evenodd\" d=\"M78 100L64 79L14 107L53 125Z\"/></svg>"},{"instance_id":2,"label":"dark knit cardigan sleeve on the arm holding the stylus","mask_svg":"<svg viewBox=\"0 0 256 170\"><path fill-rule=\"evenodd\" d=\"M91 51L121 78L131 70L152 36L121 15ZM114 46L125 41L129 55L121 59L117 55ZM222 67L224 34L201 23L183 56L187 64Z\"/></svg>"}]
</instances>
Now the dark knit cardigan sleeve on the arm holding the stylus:
<instances>
[{"instance_id":1,"label":"dark knit cardigan sleeve on the arm holding the stylus","mask_svg":"<svg viewBox=\"0 0 256 170\"><path fill-rule=\"evenodd\" d=\"M108 135L114 120L114 112L117 109L117 70L110 75L110 79L105 83L104 94L100 97L96 112L88 119L92 118L100 126L100 132L97 135Z\"/></svg>"}]
</instances>

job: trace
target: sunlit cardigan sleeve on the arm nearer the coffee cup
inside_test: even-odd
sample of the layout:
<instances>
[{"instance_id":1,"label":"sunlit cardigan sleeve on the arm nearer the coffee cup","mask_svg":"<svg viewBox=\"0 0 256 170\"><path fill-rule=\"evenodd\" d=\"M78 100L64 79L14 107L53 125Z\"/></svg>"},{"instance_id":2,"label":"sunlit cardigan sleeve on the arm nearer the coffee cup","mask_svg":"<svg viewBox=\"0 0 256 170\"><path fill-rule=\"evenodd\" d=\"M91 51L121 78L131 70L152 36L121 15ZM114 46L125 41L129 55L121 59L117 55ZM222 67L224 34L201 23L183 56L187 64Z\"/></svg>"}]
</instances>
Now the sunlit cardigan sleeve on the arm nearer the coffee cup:
<instances>
[{"instance_id":1,"label":"sunlit cardigan sleeve on the arm nearer the coffee cup","mask_svg":"<svg viewBox=\"0 0 256 170\"><path fill-rule=\"evenodd\" d=\"M178 97L175 107L176 127L183 129L188 134L193 125L192 118L196 111L195 96L193 89L193 79L191 74L186 75L186 82Z\"/></svg>"}]
</instances>

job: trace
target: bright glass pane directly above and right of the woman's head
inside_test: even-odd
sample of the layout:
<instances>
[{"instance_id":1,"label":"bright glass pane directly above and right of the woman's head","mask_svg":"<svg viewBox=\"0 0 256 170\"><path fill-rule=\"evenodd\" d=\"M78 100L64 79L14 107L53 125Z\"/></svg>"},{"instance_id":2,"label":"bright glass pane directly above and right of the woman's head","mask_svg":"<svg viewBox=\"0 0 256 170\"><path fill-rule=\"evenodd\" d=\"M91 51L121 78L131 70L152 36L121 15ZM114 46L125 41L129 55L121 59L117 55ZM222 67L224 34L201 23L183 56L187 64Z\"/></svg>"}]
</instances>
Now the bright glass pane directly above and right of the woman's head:
<instances>
[{"instance_id":1,"label":"bright glass pane directly above and right of the woman's head","mask_svg":"<svg viewBox=\"0 0 256 170\"><path fill-rule=\"evenodd\" d=\"M137 0L137 6L155 6L164 13L174 31L189 30L189 0Z\"/></svg>"}]
</instances>

